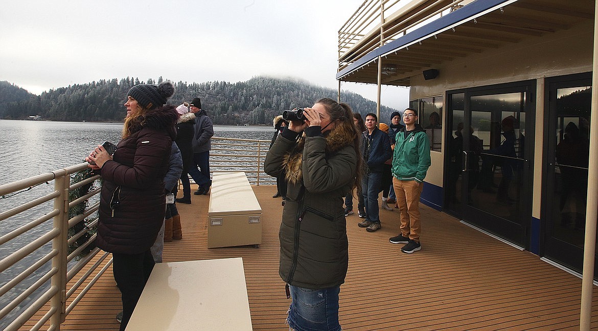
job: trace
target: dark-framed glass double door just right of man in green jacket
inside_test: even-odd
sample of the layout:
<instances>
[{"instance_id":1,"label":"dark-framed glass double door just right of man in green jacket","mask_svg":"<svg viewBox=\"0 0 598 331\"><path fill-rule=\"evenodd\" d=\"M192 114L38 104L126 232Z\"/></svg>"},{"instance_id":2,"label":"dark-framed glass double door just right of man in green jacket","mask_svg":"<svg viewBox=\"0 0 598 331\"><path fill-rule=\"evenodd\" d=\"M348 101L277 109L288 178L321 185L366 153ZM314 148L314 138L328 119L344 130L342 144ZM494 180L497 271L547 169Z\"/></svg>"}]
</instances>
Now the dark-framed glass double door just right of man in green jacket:
<instances>
[{"instance_id":1,"label":"dark-framed glass double door just right of man in green jacket","mask_svg":"<svg viewBox=\"0 0 598 331\"><path fill-rule=\"evenodd\" d=\"M448 212L520 246L531 215L526 114L532 83L449 95Z\"/></svg>"}]
</instances>

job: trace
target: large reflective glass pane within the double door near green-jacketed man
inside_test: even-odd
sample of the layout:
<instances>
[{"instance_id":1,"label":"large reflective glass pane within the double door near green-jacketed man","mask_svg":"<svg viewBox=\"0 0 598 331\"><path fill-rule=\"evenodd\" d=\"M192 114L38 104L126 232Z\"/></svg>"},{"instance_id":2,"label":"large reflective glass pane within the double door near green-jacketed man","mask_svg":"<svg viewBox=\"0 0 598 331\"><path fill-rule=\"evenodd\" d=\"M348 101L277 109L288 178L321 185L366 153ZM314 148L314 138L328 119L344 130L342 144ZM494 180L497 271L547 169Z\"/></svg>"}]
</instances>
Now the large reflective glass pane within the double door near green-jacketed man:
<instances>
[{"instance_id":1,"label":"large reflective glass pane within the double door near green-jacketed man","mask_svg":"<svg viewBox=\"0 0 598 331\"><path fill-rule=\"evenodd\" d=\"M523 181L525 94L477 95L469 100L471 128L469 205L513 222L520 222Z\"/></svg>"}]
</instances>

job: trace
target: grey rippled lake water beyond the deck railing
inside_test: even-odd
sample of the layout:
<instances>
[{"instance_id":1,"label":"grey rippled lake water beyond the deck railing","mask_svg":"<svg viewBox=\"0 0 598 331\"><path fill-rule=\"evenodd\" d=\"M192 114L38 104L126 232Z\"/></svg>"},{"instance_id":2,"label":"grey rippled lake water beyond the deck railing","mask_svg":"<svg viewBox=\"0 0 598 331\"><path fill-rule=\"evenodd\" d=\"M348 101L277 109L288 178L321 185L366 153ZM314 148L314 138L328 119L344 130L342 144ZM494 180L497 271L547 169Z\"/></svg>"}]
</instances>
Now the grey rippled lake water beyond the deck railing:
<instances>
[{"instance_id":1,"label":"grey rippled lake water beyond the deck railing","mask_svg":"<svg viewBox=\"0 0 598 331\"><path fill-rule=\"evenodd\" d=\"M122 123L0 120L0 146L2 147L0 153L0 185L84 162L85 156L103 141L108 140L117 143L120 140L122 128ZM214 126L215 137L270 140L273 133L274 128L271 126ZM53 188L53 184L43 184L14 196L0 197L0 212L47 194ZM47 202L25 213L1 221L0 236L44 215L51 208L51 204L52 202ZM30 238L39 237L47 232L51 228L51 223L51 220L47 221L28 231L22 237L0 245L0 259L22 248L31 240ZM0 274L0 286L13 279L39 259L40 256L50 252L50 249L49 244L45 245L19 263L3 271ZM2 295L0 297L0 307L5 307L8 302L39 279L49 268L50 264L46 264L28 279L23 280L17 286L18 290L11 290ZM5 318L0 319L0 330L4 329L14 319L16 313L28 305L31 298L37 294L34 293L20 305L20 308L16 308Z\"/></svg>"}]
</instances>

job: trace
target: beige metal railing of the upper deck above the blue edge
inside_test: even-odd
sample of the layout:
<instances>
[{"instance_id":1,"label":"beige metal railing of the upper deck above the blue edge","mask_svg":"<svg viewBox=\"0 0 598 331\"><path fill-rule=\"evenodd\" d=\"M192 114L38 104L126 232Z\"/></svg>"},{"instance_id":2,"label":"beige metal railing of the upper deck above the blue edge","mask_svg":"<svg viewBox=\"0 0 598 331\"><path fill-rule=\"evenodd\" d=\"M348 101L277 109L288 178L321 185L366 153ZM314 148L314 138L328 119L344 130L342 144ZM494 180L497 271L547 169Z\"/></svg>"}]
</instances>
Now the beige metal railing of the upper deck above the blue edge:
<instances>
[{"instance_id":1,"label":"beige metal railing of the upper deck above the blue edge","mask_svg":"<svg viewBox=\"0 0 598 331\"><path fill-rule=\"evenodd\" d=\"M473 0L365 0L338 30L338 70Z\"/></svg>"}]
</instances>

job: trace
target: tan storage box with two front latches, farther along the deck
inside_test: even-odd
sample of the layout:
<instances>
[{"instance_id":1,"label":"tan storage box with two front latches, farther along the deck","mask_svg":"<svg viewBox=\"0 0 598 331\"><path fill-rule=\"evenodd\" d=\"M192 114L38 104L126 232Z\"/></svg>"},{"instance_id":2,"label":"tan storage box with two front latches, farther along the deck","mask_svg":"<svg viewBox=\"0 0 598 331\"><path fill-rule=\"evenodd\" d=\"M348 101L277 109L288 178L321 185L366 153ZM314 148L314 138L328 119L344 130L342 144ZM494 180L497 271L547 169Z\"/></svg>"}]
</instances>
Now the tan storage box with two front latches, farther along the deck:
<instances>
[{"instance_id":1,"label":"tan storage box with two front latches, farther along the deck","mask_svg":"<svg viewBox=\"0 0 598 331\"><path fill-rule=\"evenodd\" d=\"M208 248L260 245L261 207L245 172L214 172Z\"/></svg>"}]
</instances>

